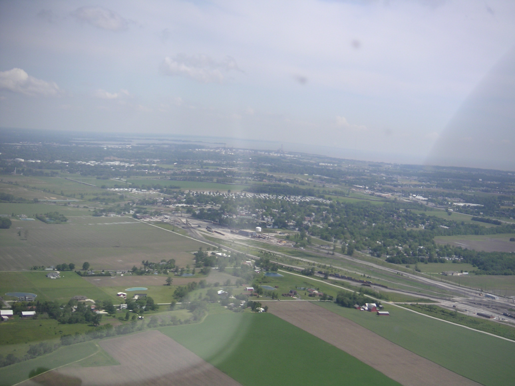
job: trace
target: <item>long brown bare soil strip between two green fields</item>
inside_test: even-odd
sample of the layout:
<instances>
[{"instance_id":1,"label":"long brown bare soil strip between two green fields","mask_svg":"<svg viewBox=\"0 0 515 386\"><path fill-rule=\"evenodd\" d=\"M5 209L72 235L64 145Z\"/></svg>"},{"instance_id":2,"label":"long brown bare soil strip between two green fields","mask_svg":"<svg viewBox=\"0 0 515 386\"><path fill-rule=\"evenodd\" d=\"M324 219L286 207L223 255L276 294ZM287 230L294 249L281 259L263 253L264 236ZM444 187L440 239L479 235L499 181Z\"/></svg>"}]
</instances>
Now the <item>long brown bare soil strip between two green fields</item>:
<instances>
[{"instance_id":1,"label":"long brown bare soil strip between two green fields","mask_svg":"<svg viewBox=\"0 0 515 386\"><path fill-rule=\"evenodd\" d=\"M268 302L269 312L406 386L479 386L311 302ZM387 318L387 317L383 317Z\"/></svg>"}]
</instances>

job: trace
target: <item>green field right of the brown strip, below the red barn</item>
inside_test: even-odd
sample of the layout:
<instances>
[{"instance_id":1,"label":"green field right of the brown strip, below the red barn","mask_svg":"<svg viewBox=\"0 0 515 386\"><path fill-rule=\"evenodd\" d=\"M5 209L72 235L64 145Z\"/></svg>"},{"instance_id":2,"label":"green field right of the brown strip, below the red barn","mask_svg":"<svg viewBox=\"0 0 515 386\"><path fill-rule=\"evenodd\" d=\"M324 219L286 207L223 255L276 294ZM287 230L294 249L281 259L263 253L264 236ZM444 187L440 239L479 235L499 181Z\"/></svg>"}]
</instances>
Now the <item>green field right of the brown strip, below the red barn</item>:
<instances>
[{"instance_id":1,"label":"green field right of the brown strip, below the red barn","mask_svg":"<svg viewBox=\"0 0 515 386\"><path fill-rule=\"evenodd\" d=\"M415 354L486 386L511 384L515 377L512 358L515 342L430 319L394 306L385 306L390 316L318 302L353 322L368 328Z\"/></svg>"}]
</instances>

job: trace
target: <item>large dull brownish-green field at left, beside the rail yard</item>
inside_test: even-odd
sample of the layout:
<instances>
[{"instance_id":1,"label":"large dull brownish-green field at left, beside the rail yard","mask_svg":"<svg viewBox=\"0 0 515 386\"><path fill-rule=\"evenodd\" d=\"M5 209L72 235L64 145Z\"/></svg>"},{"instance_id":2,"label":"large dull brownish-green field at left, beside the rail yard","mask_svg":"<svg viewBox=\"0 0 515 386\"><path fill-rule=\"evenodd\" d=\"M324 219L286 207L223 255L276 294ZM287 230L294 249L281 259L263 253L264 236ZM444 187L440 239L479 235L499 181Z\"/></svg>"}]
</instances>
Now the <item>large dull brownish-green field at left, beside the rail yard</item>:
<instances>
[{"instance_id":1,"label":"large dull brownish-green field at left, beside the rail yard","mask_svg":"<svg viewBox=\"0 0 515 386\"><path fill-rule=\"evenodd\" d=\"M80 267L84 261L95 270L130 269L139 267L142 260L170 258L185 267L193 264L191 251L207 247L130 217L68 219L71 222L65 224L16 221L10 229L0 230L0 270L28 270L63 262ZM18 236L19 228L28 230L27 240Z\"/></svg>"}]
</instances>

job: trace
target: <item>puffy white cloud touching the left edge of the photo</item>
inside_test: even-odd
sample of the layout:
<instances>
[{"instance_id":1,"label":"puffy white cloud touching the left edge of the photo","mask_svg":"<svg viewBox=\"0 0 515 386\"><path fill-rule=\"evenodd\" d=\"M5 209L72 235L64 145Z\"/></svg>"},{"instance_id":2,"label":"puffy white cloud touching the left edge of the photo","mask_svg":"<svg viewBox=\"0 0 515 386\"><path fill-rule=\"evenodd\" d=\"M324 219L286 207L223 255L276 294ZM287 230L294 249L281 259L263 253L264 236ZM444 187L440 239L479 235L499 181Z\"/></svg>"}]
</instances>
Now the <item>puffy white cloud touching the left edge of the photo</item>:
<instances>
[{"instance_id":1,"label":"puffy white cloud touching the left edge of the photo","mask_svg":"<svg viewBox=\"0 0 515 386\"><path fill-rule=\"evenodd\" d=\"M57 96L62 94L56 82L47 82L28 75L21 68L0 71L0 89L29 96Z\"/></svg>"}]
</instances>

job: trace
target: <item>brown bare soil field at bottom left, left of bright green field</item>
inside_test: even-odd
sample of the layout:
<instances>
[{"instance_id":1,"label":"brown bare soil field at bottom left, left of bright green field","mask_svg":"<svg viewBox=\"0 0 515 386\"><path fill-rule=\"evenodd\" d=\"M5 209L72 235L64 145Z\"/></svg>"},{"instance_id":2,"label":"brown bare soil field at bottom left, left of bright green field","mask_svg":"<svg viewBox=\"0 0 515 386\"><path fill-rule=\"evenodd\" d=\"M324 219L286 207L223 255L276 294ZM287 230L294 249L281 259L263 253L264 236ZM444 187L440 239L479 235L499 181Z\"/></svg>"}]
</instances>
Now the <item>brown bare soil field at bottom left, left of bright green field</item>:
<instances>
[{"instance_id":1,"label":"brown bare soil field at bottom left, left of bright green field","mask_svg":"<svg viewBox=\"0 0 515 386\"><path fill-rule=\"evenodd\" d=\"M22 384L60 386L241 386L157 330L99 342L120 365L69 365Z\"/></svg>"}]
</instances>

